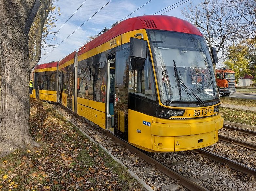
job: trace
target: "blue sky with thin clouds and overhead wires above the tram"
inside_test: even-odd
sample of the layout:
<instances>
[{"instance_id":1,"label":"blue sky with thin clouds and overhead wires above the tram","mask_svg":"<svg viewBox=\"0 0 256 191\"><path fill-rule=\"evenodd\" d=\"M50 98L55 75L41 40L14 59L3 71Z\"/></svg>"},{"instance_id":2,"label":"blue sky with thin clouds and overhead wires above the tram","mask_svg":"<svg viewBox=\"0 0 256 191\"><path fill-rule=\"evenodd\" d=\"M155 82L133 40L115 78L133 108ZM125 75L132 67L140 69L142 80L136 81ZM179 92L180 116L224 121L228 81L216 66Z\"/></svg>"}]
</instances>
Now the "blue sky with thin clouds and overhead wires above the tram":
<instances>
[{"instance_id":1,"label":"blue sky with thin clouds and overhead wires above the tram","mask_svg":"<svg viewBox=\"0 0 256 191\"><path fill-rule=\"evenodd\" d=\"M59 30L58 34L55 36L53 34L48 35L47 42L51 45L58 45L56 48L45 47L42 49L42 57L39 61L41 63L48 63L50 61L61 60L71 52L78 50L80 46L85 44L88 40L88 36L94 36L100 33L104 27L111 27L112 24L118 20L122 20L124 17L128 16L130 13L135 11L137 8L144 5L149 0L86 0L82 5L84 0L59 0L54 3L56 7L60 7L60 16L56 14L58 21L56 22L56 27L52 28L50 31L57 32L60 27L70 18L70 16L82 5L81 8L71 17L71 19ZM144 7L140 8L136 12L129 15L126 19L130 17L135 17L139 15L151 15L166 7L169 7L180 0L151 0ZM174 5L173 7L186 2L183 0L180 3ZM199 0L190 0L179 7L176 7L164 15L171 15L184 19L181 14L181 10L184 9L188 4L199 4ZM108 3L108 4L107 4ZM101 9L97 14L95 14L90 20L88 20L96 11L107 4L103 9ZM169 7L163 12L173 8ZM82 23L88 20L83 26L81 26L74 34L73 33ZM68 37L69 36L69 37ZM52 38L54 39L52 40ZM66 40L64 40L68 37ZM51 41L52 40L52 41ZM63 41L64 40L64 41ZM50 43L51 41L51 43ZM62 42L63 41L63 42ZM61 43L60 43L61 42ZM43 55L45 53L45 55Z\"/></svg>"}]
</instances>

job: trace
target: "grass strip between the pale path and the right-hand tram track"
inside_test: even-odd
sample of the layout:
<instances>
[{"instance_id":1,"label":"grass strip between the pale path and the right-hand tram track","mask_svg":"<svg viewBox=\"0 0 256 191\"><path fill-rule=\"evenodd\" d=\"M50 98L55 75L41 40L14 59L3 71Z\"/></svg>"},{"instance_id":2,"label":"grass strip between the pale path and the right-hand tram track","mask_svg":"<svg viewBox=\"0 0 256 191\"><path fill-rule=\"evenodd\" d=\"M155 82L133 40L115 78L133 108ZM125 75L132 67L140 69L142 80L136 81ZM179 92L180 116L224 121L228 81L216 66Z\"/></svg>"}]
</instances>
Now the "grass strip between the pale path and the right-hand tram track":
<instances>
[{"instance_id":1,"label":"grass strip between the pale path and the right-hand tram track","mask_svg":"<svg viewBox=\"0 0 256 191\"><path fill-rule=\"evenodd\" d=\"M256 126L256 113L251 111L220 107L221 116L226 121Z\"/></svg>"}]
</instances>

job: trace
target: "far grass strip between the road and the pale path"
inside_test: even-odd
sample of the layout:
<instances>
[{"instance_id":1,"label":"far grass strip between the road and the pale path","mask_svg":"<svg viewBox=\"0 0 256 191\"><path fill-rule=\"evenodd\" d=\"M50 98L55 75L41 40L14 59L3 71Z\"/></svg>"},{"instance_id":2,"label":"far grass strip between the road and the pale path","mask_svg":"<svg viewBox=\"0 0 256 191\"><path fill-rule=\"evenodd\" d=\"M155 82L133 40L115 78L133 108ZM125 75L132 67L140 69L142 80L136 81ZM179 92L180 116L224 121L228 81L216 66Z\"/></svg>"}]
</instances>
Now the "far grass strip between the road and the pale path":
<instances>
[{"instance_id":1,"label":"far grass strip between the road and the pale path","mask_svg":"<svg viewBox=\"0 0 256 191\"><path fill-rule=\"evenodd\" d=\"M231 98L231 97L220 97L220 101L223 104L256 107L256 100L237 99L237 98Z\"/></svg>"}]
</instances>

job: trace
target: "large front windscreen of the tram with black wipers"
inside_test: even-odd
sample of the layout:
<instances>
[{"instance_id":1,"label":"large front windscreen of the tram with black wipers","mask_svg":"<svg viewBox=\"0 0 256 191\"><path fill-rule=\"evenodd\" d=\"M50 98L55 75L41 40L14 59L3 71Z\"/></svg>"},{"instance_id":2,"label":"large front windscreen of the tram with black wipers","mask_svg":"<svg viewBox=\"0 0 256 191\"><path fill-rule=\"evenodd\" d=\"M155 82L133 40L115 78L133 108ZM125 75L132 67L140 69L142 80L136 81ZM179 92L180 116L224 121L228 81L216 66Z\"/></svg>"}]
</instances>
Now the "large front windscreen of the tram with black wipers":
<instances>
[{"instance_id":1,"label":"large front windscreen of the tram with black wipers","mask_svg":"<svg viewBox=\"0 0 256 191\"><path fill-rule=\"evenodd\" d=\"M218 98L213 63L202 36L149 33L162 102L207 102Z\"/></svg>"}]
</instances>

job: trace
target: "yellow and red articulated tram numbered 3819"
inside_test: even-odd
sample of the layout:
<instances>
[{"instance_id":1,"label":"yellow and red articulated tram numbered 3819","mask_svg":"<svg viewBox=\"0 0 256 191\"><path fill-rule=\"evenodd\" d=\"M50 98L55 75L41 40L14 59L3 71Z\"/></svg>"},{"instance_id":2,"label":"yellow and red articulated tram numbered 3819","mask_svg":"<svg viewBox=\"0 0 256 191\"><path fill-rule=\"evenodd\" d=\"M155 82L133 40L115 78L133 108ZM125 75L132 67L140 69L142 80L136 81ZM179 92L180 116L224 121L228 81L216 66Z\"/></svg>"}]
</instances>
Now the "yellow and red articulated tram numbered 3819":
<instances>
[{"instance_id":1,"label":"yellow and red articulated tram numbered 3819","mask_svg":"<svg viewBox=\"0 0 256 191\"><path fill-rule=\"evenodd\" d=\"M216 143L223 126L213 61L192 24L171 16L139 16L57 62L55 92L34 96L34 88L33 97L59 102L146 151L196 149ZM36 67L41 72L41 65ZM43 79L36 73L34 87Z\"/></svg>"}]
</instances>

